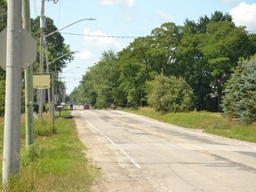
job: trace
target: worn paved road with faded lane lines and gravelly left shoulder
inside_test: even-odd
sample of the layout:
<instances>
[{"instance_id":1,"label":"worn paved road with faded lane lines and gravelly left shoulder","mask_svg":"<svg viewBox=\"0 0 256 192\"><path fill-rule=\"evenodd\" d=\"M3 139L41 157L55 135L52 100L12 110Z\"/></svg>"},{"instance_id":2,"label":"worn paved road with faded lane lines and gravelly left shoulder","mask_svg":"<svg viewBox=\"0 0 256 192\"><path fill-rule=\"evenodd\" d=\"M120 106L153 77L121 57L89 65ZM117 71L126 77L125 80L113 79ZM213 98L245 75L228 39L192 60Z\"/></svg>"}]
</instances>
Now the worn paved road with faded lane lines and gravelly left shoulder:
<instances>
[{"instance_id":1,"label":"worn paved road with faded lane lines and gravelly left shoulder","mask_svg":"<svg viewBox=\"0 0 256 192\"><path fill-rule=\"evenodd\" d=\"M117 110L73 115L106 174L105 187L94 191L256 191L255 144Z\"/></svg>"}]
</instances>

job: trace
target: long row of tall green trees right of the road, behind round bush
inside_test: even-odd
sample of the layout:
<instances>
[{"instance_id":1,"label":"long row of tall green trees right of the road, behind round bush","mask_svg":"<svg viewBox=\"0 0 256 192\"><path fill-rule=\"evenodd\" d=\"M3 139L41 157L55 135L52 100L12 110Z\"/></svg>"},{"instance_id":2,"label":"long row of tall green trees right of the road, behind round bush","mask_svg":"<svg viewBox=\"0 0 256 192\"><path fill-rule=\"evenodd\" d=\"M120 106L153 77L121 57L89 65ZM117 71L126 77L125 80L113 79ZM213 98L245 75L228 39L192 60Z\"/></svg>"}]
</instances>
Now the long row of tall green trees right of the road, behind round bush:
<instances>
[{"instance_id":1,"label":"long row of tall green trees right of the road, behind round bush","mask_svg":"<svg viewBox=\"0 0 256 192\"><path fill-rule=\"evenodd\" d=\"M232 17L222 12L200 17L197 22L185 20L183 26L164 23L117 54L104 52L70 99L87 101L97 108L113 103L147 106L145 84L163 74L186 81L194 92L197 110L221 111L223 87L237 61L255 52L255 34L236 27Z\"/></svg>"}]
</instances>

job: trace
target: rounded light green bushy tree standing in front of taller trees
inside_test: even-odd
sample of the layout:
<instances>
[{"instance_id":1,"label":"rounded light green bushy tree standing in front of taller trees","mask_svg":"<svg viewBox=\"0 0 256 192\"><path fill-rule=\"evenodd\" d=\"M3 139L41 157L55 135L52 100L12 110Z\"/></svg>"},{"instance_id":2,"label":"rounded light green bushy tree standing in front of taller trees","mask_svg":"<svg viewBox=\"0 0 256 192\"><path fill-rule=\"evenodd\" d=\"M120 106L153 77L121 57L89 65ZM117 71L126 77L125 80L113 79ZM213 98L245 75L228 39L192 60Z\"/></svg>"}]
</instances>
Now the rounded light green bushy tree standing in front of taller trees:
<instances>
[{"instance_id":1,"label":"rounded light green bushy tree standing in front of taller trees","mask_svg":"<svg viewBox=\"0 0 256 192\"><path fill-rule=\"evenodd\" d=\"M162 113L188 111L193 106L193 95L181 77L156 76L148 83L148 103Z\"/></svg>"}]
</instances>

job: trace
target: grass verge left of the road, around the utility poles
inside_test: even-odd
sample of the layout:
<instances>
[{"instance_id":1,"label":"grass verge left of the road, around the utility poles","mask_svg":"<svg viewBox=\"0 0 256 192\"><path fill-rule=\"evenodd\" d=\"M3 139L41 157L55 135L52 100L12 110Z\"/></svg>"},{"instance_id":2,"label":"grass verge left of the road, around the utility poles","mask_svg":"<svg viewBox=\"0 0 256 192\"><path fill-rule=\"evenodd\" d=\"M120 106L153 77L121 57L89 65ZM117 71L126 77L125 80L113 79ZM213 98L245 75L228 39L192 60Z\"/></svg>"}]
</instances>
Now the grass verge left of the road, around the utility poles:
<instances>
[{"instance_id":1,"label":"grass verge left of the road, around the utility poles","mask_svg":"<svg viewBox=\"0 0 256 192\"><path fill-rule=\"evenodd\" d=\"M100 172L88 163L84 155L86 148L77 138L75 120L64 118L65 116L70 116L70 111L62 112L61 116L58 114L54 129L50 126L50 116L44 114L42 124L35 119L35 144L30 148L24 147L22 118L20 174L12 177L10 185L4 191L90 191L92 181ZM3 143L2 118L0 128L0 140ZM3 156L3 146L0 154Z\"/></svg>"}]
</instances>

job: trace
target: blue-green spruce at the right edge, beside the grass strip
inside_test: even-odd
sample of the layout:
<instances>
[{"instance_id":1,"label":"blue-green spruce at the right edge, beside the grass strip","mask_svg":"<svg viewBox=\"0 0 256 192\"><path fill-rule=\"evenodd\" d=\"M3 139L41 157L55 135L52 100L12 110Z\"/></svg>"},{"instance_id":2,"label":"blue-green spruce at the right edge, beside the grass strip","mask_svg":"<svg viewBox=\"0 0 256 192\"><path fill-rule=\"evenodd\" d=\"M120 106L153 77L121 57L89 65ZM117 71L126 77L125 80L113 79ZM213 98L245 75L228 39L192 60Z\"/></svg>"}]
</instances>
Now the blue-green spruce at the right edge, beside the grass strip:
<instances>
[{"instance_id":1,"label":"blue-green spruce at the right edge, beside the grass strip","mask_svg":"<svg viewBox=\"0 0 256 192\"><path fill-rule=\"evenodd\" d=\"M256 120L256 56L241 60L226 84L222 100L224 116L245 124Z\"/></svg>"}]
</instances>

